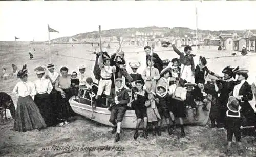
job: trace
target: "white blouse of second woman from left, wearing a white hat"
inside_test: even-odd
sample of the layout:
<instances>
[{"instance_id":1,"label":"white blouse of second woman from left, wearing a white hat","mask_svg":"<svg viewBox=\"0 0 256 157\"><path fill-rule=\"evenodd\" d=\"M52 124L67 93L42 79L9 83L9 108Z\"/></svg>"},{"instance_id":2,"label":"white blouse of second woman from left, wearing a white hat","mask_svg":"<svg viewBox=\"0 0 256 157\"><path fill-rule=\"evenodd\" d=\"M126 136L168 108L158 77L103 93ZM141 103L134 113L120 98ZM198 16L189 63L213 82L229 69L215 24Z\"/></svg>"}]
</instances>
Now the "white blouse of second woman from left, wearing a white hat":
<instances>
[{"instance_id":1,"label":"white blouse of second woman from left, wearing a white hat","mask_svg":"<svg viewBox=\"0 0 256 157\"><path fill-rule=\"evenodd\" d=\"M45 79L44 77L42 77L41 79L37 79L35 81L35 89L36 92L39 94L44 94L46 92L50 94L53 87L49 79Z\"/></svg>"}]
</instances>

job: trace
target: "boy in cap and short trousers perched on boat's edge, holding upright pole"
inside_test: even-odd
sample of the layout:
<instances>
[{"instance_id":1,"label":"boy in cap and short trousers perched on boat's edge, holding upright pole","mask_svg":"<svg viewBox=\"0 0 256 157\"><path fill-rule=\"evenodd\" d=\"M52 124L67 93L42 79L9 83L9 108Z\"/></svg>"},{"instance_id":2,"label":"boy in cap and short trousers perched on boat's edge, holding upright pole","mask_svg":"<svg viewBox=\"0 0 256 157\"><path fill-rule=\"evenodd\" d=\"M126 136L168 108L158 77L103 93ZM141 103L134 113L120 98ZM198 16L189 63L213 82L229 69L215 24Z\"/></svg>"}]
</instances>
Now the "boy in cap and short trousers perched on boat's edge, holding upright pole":
<instances>
[{"instance_id":1,"label":"boy in cap and short trousers perched on boat's edge, holding upright pole","mask_svg":"<svg viewBox=\"0 0 256 157\"><path fill-rule=\"evenodd\" d=\"M122 86L122 79L116 79L116 88L111 89L110 93L111 115L110 122L114 125L112 134L116 133L115 142L120 140L120 129L123 116L127 109L130 98L127 90Z\"/></svg>"}]
</instances>

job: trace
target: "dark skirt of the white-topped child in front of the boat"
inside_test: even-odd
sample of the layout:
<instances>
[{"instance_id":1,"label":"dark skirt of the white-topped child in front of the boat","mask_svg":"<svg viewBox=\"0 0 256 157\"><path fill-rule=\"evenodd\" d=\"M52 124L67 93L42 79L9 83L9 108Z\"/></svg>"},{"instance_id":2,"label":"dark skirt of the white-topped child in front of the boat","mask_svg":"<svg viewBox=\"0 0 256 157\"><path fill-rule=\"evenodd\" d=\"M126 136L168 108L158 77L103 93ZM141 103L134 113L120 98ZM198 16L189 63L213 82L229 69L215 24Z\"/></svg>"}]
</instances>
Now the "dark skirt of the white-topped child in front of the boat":
<instances>
[{"instance_id":1,"label":"dark skirt of the white-topped child in front of the boat","mask_svg":"<svg viewBox=\"0 0 256 157\"><path fill-rule=\"evenodd\" d=\"M186 117L186 106L184 102L172 99L172 110L175 117Z\"/></svg>"}]
</instances>

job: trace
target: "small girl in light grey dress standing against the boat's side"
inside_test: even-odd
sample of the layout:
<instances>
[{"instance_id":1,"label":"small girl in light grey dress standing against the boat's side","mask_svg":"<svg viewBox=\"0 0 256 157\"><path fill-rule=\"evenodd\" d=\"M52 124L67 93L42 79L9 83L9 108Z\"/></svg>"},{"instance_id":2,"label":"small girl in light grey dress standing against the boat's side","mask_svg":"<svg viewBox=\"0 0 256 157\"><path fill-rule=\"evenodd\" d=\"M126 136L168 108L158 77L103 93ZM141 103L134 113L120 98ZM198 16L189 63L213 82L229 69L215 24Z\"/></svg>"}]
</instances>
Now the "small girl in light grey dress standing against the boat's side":
<instances>
[{"instance_id":1,"label":"small girl in light grey dress standing against the boat's side","mask_svg":"<svg viewBox=\"0 0 256 157\"><path fill-rule=\"evenodd\" d=\"M147 121L148 123L152 123L153 127L153 135L155 136L157 134L158 129L158 121L161 120L161 116L158 112L157 106L156 106L156 99L155 99L155 93L150 92L148 93L148 100L145 102L146 108L146 114L147 114Z\"/></svg>"}]
</instances>

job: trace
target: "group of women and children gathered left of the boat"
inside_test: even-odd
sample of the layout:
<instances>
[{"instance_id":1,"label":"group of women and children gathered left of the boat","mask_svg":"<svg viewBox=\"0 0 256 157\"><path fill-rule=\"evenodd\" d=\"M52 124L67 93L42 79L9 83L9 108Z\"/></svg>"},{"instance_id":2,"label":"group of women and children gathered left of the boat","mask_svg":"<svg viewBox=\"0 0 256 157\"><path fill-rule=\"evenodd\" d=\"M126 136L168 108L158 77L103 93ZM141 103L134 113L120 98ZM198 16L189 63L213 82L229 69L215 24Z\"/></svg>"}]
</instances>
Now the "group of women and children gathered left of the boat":
<instances>
[{"instance_id":1,"label":"group of women and children gathered left of the boat","mask_svg":"<svg viewBox=\"0 0 256 157\"><path fill-rule=\"evenodd\" d=\"M13 89L18 96L14 131L69 124L71 117L75 116L69 99L78 96L78 88L85 86L86 82L93 82L92 78L86 78L84 65L79 66L79 74L73 72L71 76L67 66L61 66L61 75L54 71L54 64L48 64L47 69L45 66L36 67L34 73L38 79L34 82L28 81L27 65L18 71L17 77L21 81Z\"/></svg>"}]
</instances>

